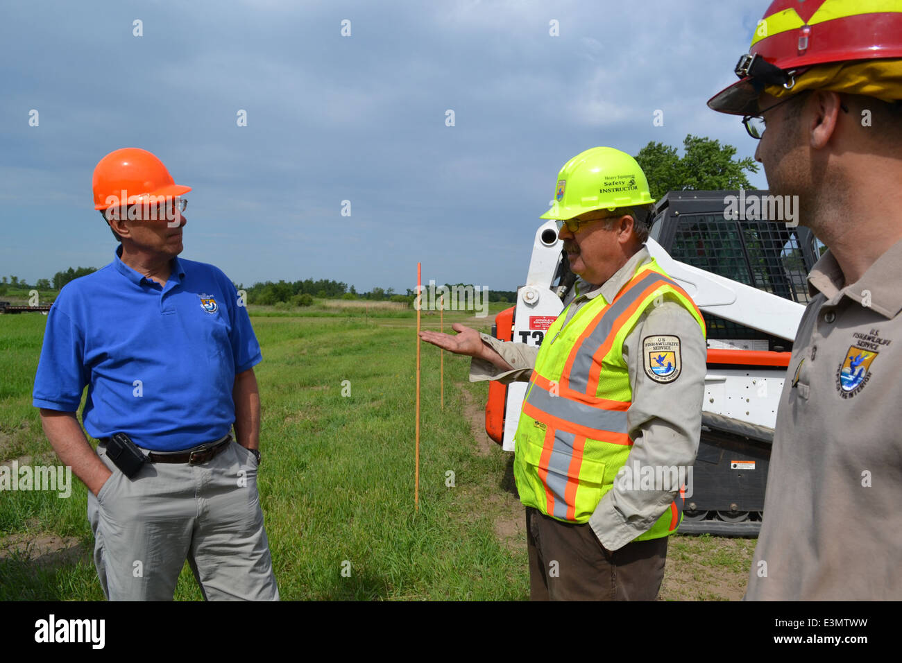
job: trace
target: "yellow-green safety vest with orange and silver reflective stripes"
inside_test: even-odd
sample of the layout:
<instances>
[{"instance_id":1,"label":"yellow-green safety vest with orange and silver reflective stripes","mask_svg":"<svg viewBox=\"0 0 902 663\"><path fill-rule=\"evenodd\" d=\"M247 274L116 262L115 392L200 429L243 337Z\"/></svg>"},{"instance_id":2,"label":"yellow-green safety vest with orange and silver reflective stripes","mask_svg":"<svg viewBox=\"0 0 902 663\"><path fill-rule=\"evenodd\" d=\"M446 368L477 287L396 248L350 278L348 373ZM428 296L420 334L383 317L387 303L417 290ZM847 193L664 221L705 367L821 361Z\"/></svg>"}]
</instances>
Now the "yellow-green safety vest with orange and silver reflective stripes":
<instances>
[{"instance_id":1,"label":"yellow-green safety vest with orange and silver reflective stripes","mask_svg":"<svg viewBox=\"0 0 902 663\"><path fill-rule=\"evenodd\" d=\"M663 295L681 303L704 335L695 303L654 260L640 265L610 304L598 295L566 326L569 307L548 327L515 436L514 477L526 506L557 520L586 522L612 489L632 447L626 419L632 391L623 340ZM665 537L681 518L682 509L673 502L635 540Z\"/></svg>"}]
</instances>

